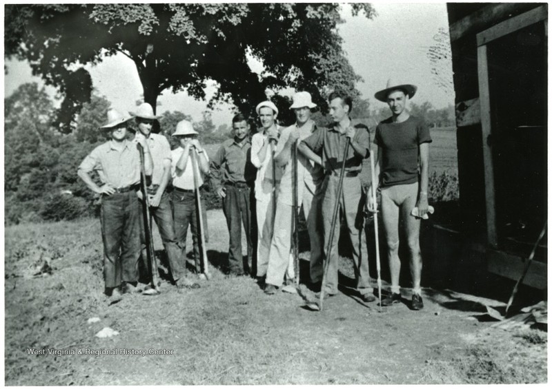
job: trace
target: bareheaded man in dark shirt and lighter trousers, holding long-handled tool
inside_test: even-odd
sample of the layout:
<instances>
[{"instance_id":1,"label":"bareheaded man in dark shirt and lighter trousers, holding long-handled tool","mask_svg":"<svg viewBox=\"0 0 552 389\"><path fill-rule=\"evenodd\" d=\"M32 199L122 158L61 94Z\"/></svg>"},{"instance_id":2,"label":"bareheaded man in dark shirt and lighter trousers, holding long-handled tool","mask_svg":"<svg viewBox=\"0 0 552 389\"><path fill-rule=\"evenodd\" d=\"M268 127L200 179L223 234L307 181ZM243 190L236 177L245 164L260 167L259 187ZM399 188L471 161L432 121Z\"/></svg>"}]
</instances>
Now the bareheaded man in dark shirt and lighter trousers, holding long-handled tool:
<instances>
[{"instance_id":1,"label":"bareheaded man in dark shirt and lighter trousers, holding long-handled tool","mask_svg":"<svg viewBox=\"0 0 552 389\"><path fill-rule=\"evenodd\" d=\"M328 96L328 103L333 123L328 128L319 129L299 144L299 151L315 163L322 165L326 171L322 184L324 192L322 195L322 220L324 221L324 255L328 262L326 264L326 284L321 287L324 288L324 294L328 297L337 294L339 271L337 242L340 229L339 222L331 225L333 210L337 202L351 240L357 291L364 302L373 302L375 297L371 294L367 250L362 248L360 239L364 215L362 207L359 207L362 197L359 173L362 170L362 160L370 156L370 134L365 125L353 126L351 123L351 118L349 118L351 109L353 109L351 96L342 91L335 91ZM345 156L347 149L348 154ZM316 153L322 153L322 157ZM337 198L342 167L344 167L343 191L340 198ZM332 228L335 231L335 238L330 247L329 237Z\"/></svg>"}]
</instances>

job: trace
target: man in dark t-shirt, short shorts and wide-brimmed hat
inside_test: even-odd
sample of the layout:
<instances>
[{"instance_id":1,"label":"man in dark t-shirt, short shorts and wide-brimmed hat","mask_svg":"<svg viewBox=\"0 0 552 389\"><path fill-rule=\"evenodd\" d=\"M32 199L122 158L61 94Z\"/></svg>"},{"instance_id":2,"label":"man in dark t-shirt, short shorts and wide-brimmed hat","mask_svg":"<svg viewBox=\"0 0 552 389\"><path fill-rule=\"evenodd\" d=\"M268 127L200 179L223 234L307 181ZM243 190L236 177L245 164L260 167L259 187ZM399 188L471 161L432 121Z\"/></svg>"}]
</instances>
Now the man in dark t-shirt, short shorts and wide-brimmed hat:
<instances>
[{"instance_id":1,"label":"man in dark t-shirt, short shorts and wide-brimmed hat","mask_svg":"<svg viewBox=\"0 0 552 389\"><path fill-rule=\"evenodd\" d=\"M422 301L422 255L420 253L420 218L428 210L428 160L431 136L424 120L411 116L406 110L409 98L417 87L411 84L394 83L375 94L377 100L387 103L391 118L377 125L374 143L378 147L376 176L380 177L382 195L382 220L387 242L387 257L391 273L391 294L381 297L383 306L400 302L399 275L399 220L402 219L404 236L408 242L408 253L413 282L411 308L420 310ZM375 184L375 183L374 183ZM376 211L377 204L368 196L368 209ZM417 207L417 216L412 215Z\"/></svg>"}]
</instances>

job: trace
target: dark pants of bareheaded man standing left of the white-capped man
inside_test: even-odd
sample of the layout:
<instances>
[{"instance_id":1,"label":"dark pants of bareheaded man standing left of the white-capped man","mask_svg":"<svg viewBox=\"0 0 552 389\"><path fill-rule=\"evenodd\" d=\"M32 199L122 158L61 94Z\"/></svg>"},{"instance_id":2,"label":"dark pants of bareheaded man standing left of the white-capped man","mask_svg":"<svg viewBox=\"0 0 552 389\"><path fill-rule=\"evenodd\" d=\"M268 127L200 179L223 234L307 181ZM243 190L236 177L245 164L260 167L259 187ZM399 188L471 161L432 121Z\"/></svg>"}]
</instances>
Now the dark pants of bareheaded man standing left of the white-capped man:
<instances>
[{"instance_id":1,"label":"dark pants of bareheaded man standing left of the white-capped man","mask_svg":"<svg viewBox=\"0 0 552 389\"><path fill-rule=\"evenodd\" d=\"M222 201L222 209L226 216L230 243L228 244L228 269L233 273L251 271L248 262L253 262L253 239L251 225L250 198L253 189L250 187L233 187L225 185L226 197ZM244 263L242 255L242 224L247 240L247 260ZM254 264L252 263L251 266Z\"/></svg>"}]
</instances>

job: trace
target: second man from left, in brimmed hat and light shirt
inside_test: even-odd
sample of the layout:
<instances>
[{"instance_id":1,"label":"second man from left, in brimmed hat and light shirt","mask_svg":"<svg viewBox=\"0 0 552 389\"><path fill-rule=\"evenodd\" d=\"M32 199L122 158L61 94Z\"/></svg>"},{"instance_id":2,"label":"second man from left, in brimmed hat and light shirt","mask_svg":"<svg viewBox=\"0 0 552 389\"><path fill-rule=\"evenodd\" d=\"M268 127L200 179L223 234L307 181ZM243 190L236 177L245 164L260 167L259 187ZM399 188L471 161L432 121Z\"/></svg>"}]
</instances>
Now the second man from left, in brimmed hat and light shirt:
<instances>
[{"instance_id":1,"label":"second man from left, in brimmed hat and light shirt","mask_svg":"<svg viewBox=\"0 0 552 389\"><path fill-rule=\"evenodd\" d=\"M159 235L167 252L168 264L172 269L182 261L182 250L177 244L175 236L175 224L172 222L172 206L170 204L170 195L166 192L166 187L170 181L170 145L167 138L160 134L152 134L155 116L151 105L143 103L139 105L136 112L136 123L139 132L146 137L150 148L153 172L151 182L148 185L148 197L150 204L150 215L159 228ZM144 207L144 202L140 202ZM142 242L141 259L145 269L150 268L148 264L148 255L146 252L146 233L144 231L144 218L140 218L140 238ZM149 274L149 272L148 272ZM176 281L176 280L175 280Z\"/></svg>"}]
</instances>

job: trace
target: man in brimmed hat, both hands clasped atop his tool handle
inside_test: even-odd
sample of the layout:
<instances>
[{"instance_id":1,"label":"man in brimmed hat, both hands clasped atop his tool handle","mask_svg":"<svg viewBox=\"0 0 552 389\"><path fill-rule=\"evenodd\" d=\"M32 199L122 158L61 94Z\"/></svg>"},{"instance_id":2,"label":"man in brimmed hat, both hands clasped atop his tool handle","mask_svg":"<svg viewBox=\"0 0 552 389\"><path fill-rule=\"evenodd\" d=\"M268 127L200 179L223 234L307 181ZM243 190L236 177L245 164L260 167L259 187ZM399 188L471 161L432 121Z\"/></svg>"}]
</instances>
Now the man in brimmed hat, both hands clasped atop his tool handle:
<instances>
[{"instance_id":1,"label":"man in brimmed hat, both hands clasped atop his tool handle","mask_svg":"<svg viewBox=\"0 0 552 389\"><path fill-rule=\"evenodd\" d=\"M199 167L199 187L204 183L204 177L209 174L209 158L207 153L197 140L197 131L193 129L192 123L188 120L181 120L172 134L179 140L179 147L170 153L171 174L172 174L172 217L175 220L175 233L177 242L181 247L181 260L175 264L172 277L177 280L178 288L199 288L199 284L190 282L186 277L186 235L188 226L192 229L193 253L196 268L199 264L199 242L200 233L199 221L197 220L197 209L195 202L194 167L190 153L199 155L197 165ZM200 273L200 269L196 269Z\"/></svg>"}]
</instances>

